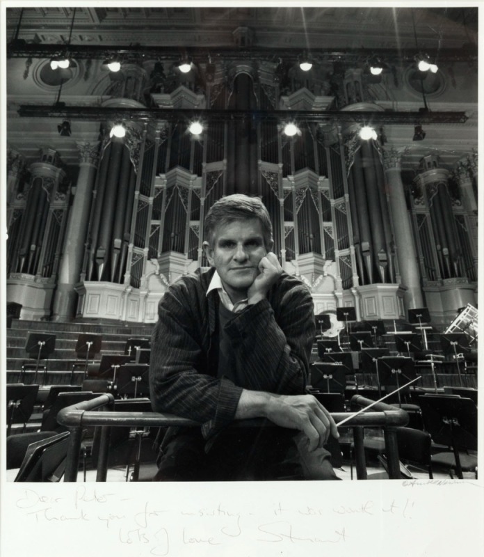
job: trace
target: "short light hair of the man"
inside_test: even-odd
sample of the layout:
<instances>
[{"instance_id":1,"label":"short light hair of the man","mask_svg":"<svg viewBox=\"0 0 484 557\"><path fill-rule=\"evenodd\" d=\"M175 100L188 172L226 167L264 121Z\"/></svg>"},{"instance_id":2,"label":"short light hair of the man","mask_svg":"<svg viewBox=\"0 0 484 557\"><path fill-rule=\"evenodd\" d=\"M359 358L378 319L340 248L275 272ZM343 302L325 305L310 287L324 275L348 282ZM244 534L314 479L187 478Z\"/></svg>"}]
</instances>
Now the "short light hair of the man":
<instances>
[{"instance_id":1,"label":"short light hair of the man","mask_svg":"<svg viewBox=\"0 0 484 557\"><path fill-rule=\"evenodd\" d=\"M259 197L250 197L244 194L232 194L220 198L210 207L204 222L205 240L212 245L213 234L217 226L233 221L259 219L262 225L262 235L266 249L273 242L271 217L266 205Z\"/></svg>"}]
</instances>

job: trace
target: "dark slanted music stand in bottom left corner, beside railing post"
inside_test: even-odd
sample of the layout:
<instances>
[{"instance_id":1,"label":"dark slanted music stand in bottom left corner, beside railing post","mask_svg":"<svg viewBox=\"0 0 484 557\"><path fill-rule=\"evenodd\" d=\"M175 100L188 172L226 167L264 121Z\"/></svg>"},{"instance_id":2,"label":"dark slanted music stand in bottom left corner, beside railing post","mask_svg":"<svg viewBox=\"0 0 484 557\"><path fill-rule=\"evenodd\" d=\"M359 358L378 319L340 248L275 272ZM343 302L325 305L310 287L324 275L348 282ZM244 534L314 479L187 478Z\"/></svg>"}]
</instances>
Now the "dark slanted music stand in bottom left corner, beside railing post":
<instances>
[{"instance_id":1,"label":"dark slanted music stand in bottom left corner, beside railing post","mask_svg":"<svg viewBox=\"0 0 484 557\"><path fill-rule=\"evenodd\" d=\"M60 482L68 446L67 431L31 443L14 482Z\"/></svg>"}]
</instances>

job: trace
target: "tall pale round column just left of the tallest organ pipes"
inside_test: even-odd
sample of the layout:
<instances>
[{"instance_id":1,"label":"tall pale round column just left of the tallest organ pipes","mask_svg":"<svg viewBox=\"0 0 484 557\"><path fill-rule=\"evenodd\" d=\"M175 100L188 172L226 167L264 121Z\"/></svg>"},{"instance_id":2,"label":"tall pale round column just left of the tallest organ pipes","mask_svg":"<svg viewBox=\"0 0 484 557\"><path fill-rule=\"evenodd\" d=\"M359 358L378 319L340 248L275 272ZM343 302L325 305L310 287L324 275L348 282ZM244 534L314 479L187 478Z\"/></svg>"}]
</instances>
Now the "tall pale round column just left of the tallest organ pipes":
<instances>
[{"instance_id":1,"label":"tall pale round column just left of the tallest organ pipes","mask_svg":"<svg viewBox=\"0 0 484 557\"><path fill-rule=\"evenodd\" d=\"M67 223L63 256L58 274L58 285L54 298L54 321L69 321L75 315L76 292L83 261L89 210L99 157L99 143L78 141L79 177L77 178L74 203Z\"/></svg>"}]
</instances>

